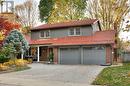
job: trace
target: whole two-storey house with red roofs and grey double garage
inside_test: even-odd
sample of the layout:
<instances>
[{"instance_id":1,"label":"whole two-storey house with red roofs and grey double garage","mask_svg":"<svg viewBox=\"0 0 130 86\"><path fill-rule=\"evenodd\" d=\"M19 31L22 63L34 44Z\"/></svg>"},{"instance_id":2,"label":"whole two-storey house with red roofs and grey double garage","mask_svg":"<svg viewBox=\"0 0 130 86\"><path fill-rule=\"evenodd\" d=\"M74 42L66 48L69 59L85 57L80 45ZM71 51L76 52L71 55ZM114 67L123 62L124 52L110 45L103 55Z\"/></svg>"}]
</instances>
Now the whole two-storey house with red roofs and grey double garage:
<instances>
[{"instance_id":1,"label":"whole two-storey house with red roofs and grey double garage","mask_svg":"<svg viewBox=\"0 0 130 86\"><path fill-rule=\"evenodd\" d=\"M31 29L30 55L58 64L111 64L115 31L101 31L97 19L43 24Z\"/></svg>"}]
</instances>

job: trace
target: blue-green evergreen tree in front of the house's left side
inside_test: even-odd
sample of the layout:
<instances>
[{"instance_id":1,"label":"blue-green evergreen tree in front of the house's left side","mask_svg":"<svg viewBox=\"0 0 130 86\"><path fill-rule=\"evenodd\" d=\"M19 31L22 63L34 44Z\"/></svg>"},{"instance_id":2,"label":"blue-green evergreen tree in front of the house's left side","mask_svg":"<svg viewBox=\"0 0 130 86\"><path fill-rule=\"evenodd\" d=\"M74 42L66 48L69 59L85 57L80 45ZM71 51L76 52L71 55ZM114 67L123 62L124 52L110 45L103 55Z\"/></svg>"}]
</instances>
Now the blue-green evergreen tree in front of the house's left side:
<instances>
[{"instance_id":1,"label":"blue-green evergreen tree in front of the house's left side","mask_svg":"<svg viewBox=\"0 0 130 86\"><path fill-rule=\"evenodd\" d=\"M17 54L23 53L29 48L28 42L18 30L12 30L5 38L3 46L6 47L9 45L13 48L12 53L14 54L14 58Z\"/></svg>"}]
</instances>

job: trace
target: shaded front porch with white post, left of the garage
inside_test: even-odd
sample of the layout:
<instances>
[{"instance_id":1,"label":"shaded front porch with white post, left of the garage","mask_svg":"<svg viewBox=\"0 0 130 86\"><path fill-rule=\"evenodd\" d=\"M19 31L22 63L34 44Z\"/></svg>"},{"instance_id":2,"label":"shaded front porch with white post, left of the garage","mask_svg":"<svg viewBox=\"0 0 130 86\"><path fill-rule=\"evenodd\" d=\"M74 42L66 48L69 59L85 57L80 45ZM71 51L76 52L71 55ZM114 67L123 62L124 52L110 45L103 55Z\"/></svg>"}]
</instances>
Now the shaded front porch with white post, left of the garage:
<instances>
[{"instance_id":1,"label":"shaded front porch with white post, left of the garage","mask_svg":"<svg viewBox=\"0 0 130 86\"><path fill-rule=\"evenodd\" d=\"M34 62L57 62L57 48L50 46L31 46L24 57L31 56Z\"/></svg>"}]
</instances>

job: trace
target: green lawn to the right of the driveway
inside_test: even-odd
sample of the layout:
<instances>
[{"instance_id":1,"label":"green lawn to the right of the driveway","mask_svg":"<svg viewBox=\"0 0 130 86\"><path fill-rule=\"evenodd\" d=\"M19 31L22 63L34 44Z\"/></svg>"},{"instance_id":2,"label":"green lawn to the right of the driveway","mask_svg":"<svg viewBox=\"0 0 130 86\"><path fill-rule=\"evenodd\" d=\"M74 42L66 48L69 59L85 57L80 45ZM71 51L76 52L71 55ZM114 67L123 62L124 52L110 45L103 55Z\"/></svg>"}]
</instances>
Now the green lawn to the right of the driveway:
<instances>
[{"instance_id":1,"label":"green lawn to the right of the driveway","mask_svg":"<svg viewBox=\"0 0 130 86\"><path fill-rule=\"evenodd\" d=\"M107 67L98 75L94 85L130 86L130 63L123 66Z\"/></svg>"}]
</instances>

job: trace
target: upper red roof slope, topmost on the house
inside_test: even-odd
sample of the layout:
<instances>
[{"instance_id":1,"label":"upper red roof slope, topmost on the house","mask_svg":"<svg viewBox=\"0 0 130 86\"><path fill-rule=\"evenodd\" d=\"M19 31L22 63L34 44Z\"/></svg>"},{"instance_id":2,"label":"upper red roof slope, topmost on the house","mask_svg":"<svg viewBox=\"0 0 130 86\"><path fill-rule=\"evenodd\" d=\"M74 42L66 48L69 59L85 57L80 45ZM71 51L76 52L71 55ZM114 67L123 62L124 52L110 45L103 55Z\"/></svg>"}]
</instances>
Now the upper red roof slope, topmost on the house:
<instances>
[{"instance_id":1,"label":"upper red roof slope, topmost on the house","mask_svg":"<svg viewBox=\"0 0 130 86\"><path fill-rule=\"evenodd\" d=\"M55 28L65 28L65 27L74 27L74 26L86 26L94 24L99 21L97 19L85 19L85 20L72 20L69 22L60 22L55 24L43 24L31 29L33 30L41 30L41 29L55 29ZM101 29L101 28L100 28Z\"/></svg>"}]
</instances>

